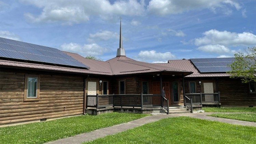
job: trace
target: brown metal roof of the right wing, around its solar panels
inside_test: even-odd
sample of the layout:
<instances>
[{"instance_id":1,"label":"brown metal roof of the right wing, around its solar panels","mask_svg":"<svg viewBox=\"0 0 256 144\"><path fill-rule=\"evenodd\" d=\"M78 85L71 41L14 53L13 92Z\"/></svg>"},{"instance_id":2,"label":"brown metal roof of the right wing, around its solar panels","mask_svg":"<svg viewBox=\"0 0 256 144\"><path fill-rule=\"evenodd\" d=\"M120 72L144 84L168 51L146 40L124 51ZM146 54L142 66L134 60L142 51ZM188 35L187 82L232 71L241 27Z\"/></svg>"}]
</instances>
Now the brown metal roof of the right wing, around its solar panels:
<instances>
[{"instance_id":1,"label":"brown metal roof of the right wing, around its solar panels","mask_svg":"<svg viewBox=\"0 0 256 144\"><path fill-rule=\"evenodd\" d=\"M168 63L155 63L157 65L161 66L167 66L177 69L183 69L187 71L192 71L193 74L187 75L185 77L216 77L216 76L230 76L226 73L207 73L207 74L201 74L193 65L193 63L190 60L183 59L183 60L168 60Z\"/></svg>"}]
</instances>

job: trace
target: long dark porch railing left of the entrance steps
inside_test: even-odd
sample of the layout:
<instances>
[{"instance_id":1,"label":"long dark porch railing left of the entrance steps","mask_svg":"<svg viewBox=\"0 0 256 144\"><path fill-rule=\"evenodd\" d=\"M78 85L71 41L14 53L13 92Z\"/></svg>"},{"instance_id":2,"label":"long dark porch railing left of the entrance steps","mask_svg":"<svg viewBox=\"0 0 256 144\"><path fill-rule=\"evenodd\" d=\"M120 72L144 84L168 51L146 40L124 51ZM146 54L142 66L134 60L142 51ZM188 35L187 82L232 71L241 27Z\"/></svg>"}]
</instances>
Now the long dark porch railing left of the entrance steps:
<instances>
[{"instance_id":1,"label":"long dark porch railing left of the entrance steps","mask_svg":"<svg viewBox=\"0 0 256 144\"><path fill-rule=\"evenodd\" d=\"M169 114L169 100L161 95L87 95L86 108L96 107L97 109L108 106L120 107L150 107L162 106Z\"/></svg>"}]
</instances>

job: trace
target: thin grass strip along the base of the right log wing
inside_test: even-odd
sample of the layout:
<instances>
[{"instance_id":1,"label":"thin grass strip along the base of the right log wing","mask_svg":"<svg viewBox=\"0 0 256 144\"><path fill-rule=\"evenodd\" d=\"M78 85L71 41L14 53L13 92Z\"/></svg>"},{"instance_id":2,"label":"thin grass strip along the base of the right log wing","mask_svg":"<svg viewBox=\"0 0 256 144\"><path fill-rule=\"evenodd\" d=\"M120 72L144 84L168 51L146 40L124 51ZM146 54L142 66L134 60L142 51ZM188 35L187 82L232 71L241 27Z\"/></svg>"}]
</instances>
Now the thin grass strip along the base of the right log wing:
<instances>
[{"instance_id":1,"label":"thin grass strip along the base of the right log wing","mask_svg":"<svg viewBox=\"0 0 256 144\"><path fill-rule=\"evenodd\" d=\"M255 112L256 107L202 107L204 112Z\"/></svg>"}]
</instances>

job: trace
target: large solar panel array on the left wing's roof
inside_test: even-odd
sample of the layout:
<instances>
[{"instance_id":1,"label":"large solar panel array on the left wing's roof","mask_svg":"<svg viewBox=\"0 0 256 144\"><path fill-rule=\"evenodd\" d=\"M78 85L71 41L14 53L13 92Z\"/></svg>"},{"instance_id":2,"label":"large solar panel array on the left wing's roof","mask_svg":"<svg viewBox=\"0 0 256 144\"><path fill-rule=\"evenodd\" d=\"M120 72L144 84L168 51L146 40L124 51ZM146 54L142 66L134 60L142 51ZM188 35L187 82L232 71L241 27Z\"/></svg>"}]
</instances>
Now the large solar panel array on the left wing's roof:
<instances>
[{"instance_id":1,"label":"large solar panel array on the left wing's roof","mask_svg":"<svg viewBox=\"0 0 256 144\"><path fill-rule=\"evenodd\" d=\"M57 48L0 38L0 57L89 68Z\"/></svg>"}]
</instances>

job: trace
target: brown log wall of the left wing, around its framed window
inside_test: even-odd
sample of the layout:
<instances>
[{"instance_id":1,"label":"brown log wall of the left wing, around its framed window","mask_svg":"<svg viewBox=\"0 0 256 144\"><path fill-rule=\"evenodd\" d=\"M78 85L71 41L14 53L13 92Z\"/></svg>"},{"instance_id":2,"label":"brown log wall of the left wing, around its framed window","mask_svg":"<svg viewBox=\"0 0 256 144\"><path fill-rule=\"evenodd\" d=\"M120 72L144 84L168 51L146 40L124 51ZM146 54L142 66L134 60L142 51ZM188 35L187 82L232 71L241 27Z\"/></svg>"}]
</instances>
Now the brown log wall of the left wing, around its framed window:
<instances>
[{"instance_id":1,"label":"brown log wall of the left wing, around its framed window","mask_svg":"<svg viewBox=\"0 0 256 144\"><path fill-rule=\"evenodd\" d=\"M40 75L38 101L24 101L24 72L0 72L0 125L83 113L84 78L60 74Z\"/></svg>"}]
</instances>

